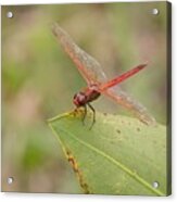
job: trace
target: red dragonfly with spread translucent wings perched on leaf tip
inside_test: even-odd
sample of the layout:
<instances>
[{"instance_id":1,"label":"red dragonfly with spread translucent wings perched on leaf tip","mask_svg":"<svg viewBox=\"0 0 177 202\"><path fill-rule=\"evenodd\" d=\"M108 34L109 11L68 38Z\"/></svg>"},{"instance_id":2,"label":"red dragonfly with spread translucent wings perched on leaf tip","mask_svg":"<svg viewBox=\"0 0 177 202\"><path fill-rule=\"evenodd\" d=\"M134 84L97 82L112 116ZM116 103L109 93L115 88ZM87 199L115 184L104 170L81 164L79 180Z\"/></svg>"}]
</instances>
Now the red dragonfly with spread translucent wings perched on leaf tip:
<instances>
[{"instance_id":1,"label":"red dragonfly with spread translucent wings perched on leaf tip","mask_svg":"<svg viewBox=\"0 0 177 202\"><path fill-rule=\"evenodd\" d=\"M68 36L68 34L63 30L56 23L52 26L52 31L58 38L59 42L62 45L65 52L69 55L73 62L76 64L78 71L87 81L87 88L79 91L74 96L73 102L76 109L84 106L85 114L84 119L87 114L87 105L93 112L93 123L96 122L94 109L90 104L93 100L98 99L101 93L110 97L116 101L122 106L128 109L137 116L141 122L147 125L154 125L155 119L151 116L147 109L130 98L126 92L124 92L117 85L128 77L137 74L139 71L143 70L147 64L140 64L130 71L115 77L112 80L108 80L101 65L91 55L81 50L74 40ZM84 121L83 119L83 121Z\"/></svg>"}]
</instances>

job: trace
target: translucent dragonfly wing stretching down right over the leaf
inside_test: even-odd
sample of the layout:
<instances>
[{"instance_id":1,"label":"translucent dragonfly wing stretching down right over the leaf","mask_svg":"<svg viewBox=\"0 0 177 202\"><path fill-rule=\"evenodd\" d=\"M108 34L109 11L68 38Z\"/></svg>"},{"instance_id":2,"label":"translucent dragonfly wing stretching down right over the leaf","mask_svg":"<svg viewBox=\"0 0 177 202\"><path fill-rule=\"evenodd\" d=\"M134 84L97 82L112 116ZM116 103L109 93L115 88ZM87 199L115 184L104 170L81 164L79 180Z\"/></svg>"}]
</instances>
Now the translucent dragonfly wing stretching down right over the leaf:
<instances>
[{"instance_id":1,"label":"translucent dragonfly wing stretching down right over the leaf","mask_svg":"<svg viewBox=\"0 0 177 202\"><path fill-rule=\"evenodd\" d=\"M131 113L144 124L155 125L155 118L148 113L147 109L142 104L130 98L118 86L110 88L102 93L109 96L118 104L131 111Z\"/></svg>"}]
</instances>

